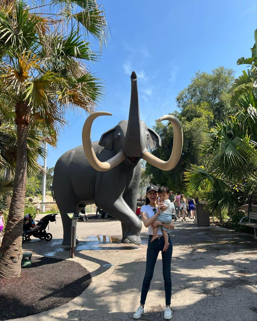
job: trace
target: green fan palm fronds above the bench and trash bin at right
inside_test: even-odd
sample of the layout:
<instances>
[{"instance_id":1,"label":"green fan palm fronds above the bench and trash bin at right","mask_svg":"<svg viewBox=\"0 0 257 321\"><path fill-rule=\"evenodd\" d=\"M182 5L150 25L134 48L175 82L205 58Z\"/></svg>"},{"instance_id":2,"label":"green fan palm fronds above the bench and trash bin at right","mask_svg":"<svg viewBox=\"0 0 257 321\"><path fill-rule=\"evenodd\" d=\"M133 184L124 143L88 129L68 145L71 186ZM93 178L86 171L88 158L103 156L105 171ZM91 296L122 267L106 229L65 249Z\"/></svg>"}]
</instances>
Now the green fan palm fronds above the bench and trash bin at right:
<instances>
[{"instance_id":1,"label":"green fan palm fronds above the bench and trash bin at right","mask_svg":"<svg viewBox=\"0 0 257 321\"><path fill-rule=\"evenodd\" d=\"M210 187L205 189L204 198L220 220L223 210L234 213L240 197L256 194L256 119L256 109L249 106L223 122L216 121L201 147L201 154L209 159L206 168L192 165L185 172L185 181L193 192L206 184ZM245 197L242 199L245 201Z\"/></svg>"}]
</instances>

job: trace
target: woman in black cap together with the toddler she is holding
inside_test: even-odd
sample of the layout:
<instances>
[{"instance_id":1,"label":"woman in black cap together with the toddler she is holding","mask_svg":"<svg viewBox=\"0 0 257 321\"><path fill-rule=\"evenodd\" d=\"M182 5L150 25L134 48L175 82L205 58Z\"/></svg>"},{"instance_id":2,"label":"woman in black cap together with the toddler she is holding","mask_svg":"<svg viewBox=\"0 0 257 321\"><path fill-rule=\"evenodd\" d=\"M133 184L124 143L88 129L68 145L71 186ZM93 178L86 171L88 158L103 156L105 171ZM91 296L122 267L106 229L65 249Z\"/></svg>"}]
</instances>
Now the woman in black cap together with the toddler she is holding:
<instances>
[{"instance_id":1,"label":"woman in black cap together with the toddler she is holding","mask_svg":"<svg viewBox=\"0 0 257 321\"><path fill-rule=\"evenodd\" d=\"M161 197L162 204L157 204L158 194ZM172 257L172 242L167 232L168 229L174 229L174 224L165 223L164 220L168 220L169 211L171 211L171 205L169 197L169 189L167 187L161 187L159 190L155 185L148 186L146 189L146 205L141 207L141 217L145 227L148 227L148 247L146 253L146 269L145 276L142 284L140 306L134 313L133 318L139 319L145 312L144 304L148 290L150 288L150 282L153 277L154 266L157 261L157 257L160 251L162 255L162 272L164 279L165 300L166 308L164 311L164 319L170 320L172 317L172 311L170 309L171 299L171 277L170 266ZM166 212L166 213L165 213ZM160 215L163 214L163 215ZM160 215L160 218L159 218ZM171 216L171 215L170 215ZM162 220L162 221L159 221ZM155 230L155 231L154 231Z\"/></svg>"}]
</instances>

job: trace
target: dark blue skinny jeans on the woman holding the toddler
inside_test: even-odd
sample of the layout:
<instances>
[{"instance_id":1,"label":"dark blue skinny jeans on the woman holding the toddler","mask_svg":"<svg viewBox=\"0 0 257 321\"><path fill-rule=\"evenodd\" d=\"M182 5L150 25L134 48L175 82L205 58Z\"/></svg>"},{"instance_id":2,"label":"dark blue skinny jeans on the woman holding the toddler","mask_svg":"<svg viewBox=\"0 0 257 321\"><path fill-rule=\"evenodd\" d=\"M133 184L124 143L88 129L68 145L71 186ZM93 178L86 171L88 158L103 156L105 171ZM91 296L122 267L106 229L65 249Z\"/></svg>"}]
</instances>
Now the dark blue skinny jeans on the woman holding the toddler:
<instances>
[{"instance_id":1,"label":"dark blue skinny jeans on the woman holding the toddler","mask_svg":"<svg viewBox=\"0 0 257 321\"><path fill-rule=\"evenodd\" d=\"M141 304L145 304L146 296L150 288L150 283L153 277L154 266L155 266L159 251L162 251L164 247L163 236L160 236L158 239L155 239L152 243L150 243L151 239L152 239L152 236L149 235L148 247L146 252L145 276L144 276L142 290L141 290L141 299L140 299ZM170 298L171 298L170 265L171 265L171 257L172 257L172 242L171 242L170 236L169 236L169 244L170 245L167 251L161 252L162 275L164 279L166 305L170 305Z\"/></svg>"}]
</instances>

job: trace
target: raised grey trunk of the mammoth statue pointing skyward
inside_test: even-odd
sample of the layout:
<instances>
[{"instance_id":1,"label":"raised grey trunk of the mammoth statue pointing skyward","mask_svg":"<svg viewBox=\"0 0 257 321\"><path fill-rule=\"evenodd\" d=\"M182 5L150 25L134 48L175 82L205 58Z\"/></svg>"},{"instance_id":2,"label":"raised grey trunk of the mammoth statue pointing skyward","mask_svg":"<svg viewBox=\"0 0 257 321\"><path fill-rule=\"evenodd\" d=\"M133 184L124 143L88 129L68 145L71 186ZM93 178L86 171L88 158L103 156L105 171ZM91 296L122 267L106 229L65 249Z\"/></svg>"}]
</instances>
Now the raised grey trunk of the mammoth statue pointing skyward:
<instances>
[{"instance_id":1,"label":"raised grey trunk of the mammoth statue pointing skyward","mask_svg":"<svg viewBox=\"0 0 257 321\"><path fill-rule=\"evenodd\" d=\"M129 158L141 157L143 153L142 134L139 114L137 76L133 71L131 74L131 96L128 127L124 141L124 154Z\"/></svg>"}]
</instances>

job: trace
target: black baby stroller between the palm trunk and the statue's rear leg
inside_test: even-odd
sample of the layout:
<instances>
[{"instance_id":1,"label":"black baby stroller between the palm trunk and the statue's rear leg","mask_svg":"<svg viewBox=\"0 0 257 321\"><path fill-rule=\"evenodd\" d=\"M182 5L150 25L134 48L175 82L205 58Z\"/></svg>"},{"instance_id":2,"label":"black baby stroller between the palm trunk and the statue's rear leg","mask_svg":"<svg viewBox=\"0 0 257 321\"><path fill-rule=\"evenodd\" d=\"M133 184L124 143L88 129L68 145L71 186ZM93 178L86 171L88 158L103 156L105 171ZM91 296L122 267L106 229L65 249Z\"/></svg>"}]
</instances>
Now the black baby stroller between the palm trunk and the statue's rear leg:
<instances>
[{"instance_id":1,"label":"black baby stroller between the palm trunk and the statue's rear leg","mask_svg":"<svg viewBox=\"0 0 257 321\"><path fill-rule=\"evenodd\" d=\"M51 241L53 238L53 235L51 233L46 232L47 225L50 222L56 222L56 215L57 214L47 214L46 216L42 217L39 223L37 225L39 226L39 229L35 231L31 230L23 230L22 234L22 243L26 243L28 240L27 235L32 233L32 236L35 238L41 239L41 240L46 240L46 241Z\"/></svg>"}]
</instances>

